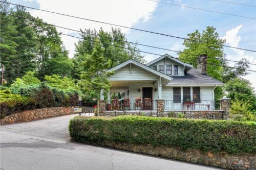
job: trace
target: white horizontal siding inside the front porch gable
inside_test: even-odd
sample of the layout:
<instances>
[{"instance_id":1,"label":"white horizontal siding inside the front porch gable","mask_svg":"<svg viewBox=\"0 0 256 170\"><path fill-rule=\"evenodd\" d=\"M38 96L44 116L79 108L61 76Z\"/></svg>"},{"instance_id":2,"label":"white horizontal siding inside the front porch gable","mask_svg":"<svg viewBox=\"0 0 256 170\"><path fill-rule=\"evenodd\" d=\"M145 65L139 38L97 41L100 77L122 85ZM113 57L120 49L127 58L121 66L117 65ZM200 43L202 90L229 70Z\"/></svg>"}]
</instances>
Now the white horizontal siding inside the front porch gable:
<instances>
[{"instance_id":1,"label":"white horizontal siding inside the front porch gable","mask_svg":"<svg viewBox=\"0 0 256 170\"><path fill-rule=\"evenodd\" d=\"M130 73L130 66L117 70L114 75L108 78L110 81L136 81L136 80L158 80L158 77L150 74L134 65L132 65L132 72Z\"/></svg>"}]
</instances>

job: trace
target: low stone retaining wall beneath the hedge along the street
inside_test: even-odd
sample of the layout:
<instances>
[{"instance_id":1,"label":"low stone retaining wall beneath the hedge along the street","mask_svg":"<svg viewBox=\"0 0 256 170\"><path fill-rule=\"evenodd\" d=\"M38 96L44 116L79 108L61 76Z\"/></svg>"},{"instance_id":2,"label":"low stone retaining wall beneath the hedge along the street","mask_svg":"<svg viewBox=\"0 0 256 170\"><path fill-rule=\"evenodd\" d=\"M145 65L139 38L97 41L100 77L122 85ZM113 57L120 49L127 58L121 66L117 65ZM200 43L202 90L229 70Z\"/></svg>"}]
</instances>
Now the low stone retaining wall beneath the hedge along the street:
<instances>
[{"instance_id":1,"label":"low stone retaining wall beneath the hedge along the street","mask_svg":"<svg viewBox=\"0 0 256 170\"><path fill-rule=\"evenodd\" d=\"M115 148L136 153L178 159L187 162L216 166L227 169L256 169L256 154L230 155L226 152L212 153L189 149L187 151L175 147L154 147L151 144L138 145L124 142L102 141L91 143L101 147Z\"/></svg>"}]
</instances>

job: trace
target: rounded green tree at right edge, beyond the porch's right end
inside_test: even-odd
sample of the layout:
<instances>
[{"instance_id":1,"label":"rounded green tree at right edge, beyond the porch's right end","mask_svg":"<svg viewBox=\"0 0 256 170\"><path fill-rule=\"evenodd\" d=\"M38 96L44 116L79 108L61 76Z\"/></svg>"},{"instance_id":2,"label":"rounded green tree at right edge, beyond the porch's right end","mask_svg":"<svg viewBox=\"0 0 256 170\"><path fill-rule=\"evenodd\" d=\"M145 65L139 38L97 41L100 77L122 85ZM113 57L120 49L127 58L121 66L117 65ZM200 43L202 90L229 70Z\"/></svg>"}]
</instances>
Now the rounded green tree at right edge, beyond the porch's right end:
<instances>
[{"instance_id":1,"label":"rounded green tree at right edge, beyond the porch's right end","mask_svg":"<svg viewBox=\"0 0 256 170\"><path fill-rule=\"evenodd\" d=\"M228 92L228 98L232 101L246 102L248 110L256 112L256 96L250 82L245 79L235 78L225 84L224 89Z\"/></svg>"}]
</instances>

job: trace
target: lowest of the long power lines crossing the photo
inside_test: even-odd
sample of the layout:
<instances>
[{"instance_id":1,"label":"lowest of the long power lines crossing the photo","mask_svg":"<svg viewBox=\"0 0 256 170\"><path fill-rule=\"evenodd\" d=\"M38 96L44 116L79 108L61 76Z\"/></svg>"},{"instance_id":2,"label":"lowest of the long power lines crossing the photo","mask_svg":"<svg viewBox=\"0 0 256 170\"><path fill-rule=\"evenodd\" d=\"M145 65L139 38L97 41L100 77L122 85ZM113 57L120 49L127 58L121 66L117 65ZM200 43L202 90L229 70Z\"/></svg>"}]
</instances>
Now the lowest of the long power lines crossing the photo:
<instances>
[{"instance_id":1,"label":"lowest of the long power lines crossing the photo","mask_svg":"<svg viewBox=\"0 0 256 170\"><path fill-rule=\"evenodd\" d=\"M9 20L9 19L5 19L5 20ZM12 21L12 20L9 20L9 21ZM14 21L12 21L14 22ZM21 23L22 25L25 25L25 26L29 26L31 27L31 25L27 25L25 23ZM44 29L43 29L44 30ZM60 35L66 35L66 36L69 36L69 37L73 37L73 38L78 38L78 39L82 39L81 37L76 37L76 36L73 36L73 35L68 35L68 34L63 34L63 33L58 33ZM135 50L135 49L131 49L131 48L127 48L127 47L123 47L123 46L117 46L117 45L114 45L114 44L108 44L108 43L102 43L102 42L98 42L98 41L93 41L93 40L88 40L88 41L91 41L91 42L95 42L95 43L100 43L100 44L105 44L105 45L110 45L110 46L115 46L115 47L119 47L119 48L124 48L124 49L127 49L127 50L132 50L132 51L136 51L136 52L141 52L141 53L146 53L146 54L152 54L152 55L156 55L156 56L162 56L161 54L156 54L156 53L151 53L151 52L145 52L145 51L141 51L141 50ZM175 58L177 60L184 60L184 61L191 61L191 62L195 62L193 60L187 60L187 59L179 59L179 58L176 58L176 57L173 57L173 56L170 56L171 58ZM202 63L202 62L199 62L199 63ZM235 68L235 69L240 69L240 70L246 70L246 71L253 71L253 72L256 72L256 70L249 70L249 69L241 69L241 68L236 68L236 67L229 67L229 66L224 66L224 65L216 65L216 64L210 64L210 63L207 63L207 65L212 65L212 66L219 66L219 67L226 67L226 68Z\"/></svg>"}]
</instances>

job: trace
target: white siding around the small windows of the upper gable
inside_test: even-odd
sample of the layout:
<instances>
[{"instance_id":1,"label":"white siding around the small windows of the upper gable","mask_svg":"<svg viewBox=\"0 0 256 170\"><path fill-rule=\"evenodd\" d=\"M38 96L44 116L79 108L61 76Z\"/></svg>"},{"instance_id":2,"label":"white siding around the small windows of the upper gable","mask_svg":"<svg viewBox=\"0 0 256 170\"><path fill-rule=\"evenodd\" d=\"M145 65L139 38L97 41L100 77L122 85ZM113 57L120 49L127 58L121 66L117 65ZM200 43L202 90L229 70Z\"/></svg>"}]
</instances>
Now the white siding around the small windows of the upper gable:
<instances>
[{"instance_id":1,"label":"white siding around the small windows of the upper gable","mask_svg":"<svg viewBox=\"0 0 256 170\"><path fill-rule=\"evenodd\" d=\"M175 62L173 62L169 59L167 59L166 62L165 62L165 59L162 59L162 60L150 65L150 67L152 68L153 65L157 65L157 70L159 68L158 67L159 65L164 65L164 74L166 74L166 65L172 65L172 66L178 65L178 75L173 74L172 76L184 76L184 67L183 67L183 65L177 64L177 63L175 63ZM174 70L174 68L173 68L173 70Z\"/></svg>"}]
</instances>

